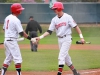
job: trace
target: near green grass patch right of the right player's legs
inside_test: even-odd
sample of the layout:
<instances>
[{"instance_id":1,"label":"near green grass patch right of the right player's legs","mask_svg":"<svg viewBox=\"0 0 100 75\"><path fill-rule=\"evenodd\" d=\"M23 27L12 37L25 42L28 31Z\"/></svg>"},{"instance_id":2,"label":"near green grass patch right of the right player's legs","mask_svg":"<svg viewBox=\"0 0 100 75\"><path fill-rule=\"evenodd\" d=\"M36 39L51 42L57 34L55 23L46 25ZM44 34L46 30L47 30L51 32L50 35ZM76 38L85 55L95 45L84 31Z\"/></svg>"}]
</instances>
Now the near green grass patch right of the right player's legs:
<instances>
[{"instance_id":1,"label":"near green grass patch right of the right player's legs","mask_svg":"<svg viewBox=\"0 0 100 75\"><path fill-rule=\"evenodd\" d=\"M100 68L99 50L74 50L71 51L73 63L78 69Z\"/></svg>"}]
</instances>

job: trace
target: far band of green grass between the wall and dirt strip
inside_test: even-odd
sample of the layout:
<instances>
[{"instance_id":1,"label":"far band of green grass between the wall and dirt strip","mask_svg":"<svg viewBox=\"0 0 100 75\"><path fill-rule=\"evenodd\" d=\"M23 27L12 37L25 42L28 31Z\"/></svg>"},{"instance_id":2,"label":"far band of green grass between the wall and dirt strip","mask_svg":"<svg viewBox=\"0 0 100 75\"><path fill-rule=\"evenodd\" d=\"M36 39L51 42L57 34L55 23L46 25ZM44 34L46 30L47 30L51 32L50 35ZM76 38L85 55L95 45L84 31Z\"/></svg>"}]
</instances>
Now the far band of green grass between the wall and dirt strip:
<instances>
[{"instance_id":1,"label":"far band of green grass between the wall and dirt strip","mask_svg":"<svg viewBox=\"0 0 100 75\"><path fill-rule=\"evenodd\" d=\"M23 26L23 28L25 29L25 25ZM42 26L42 29L44 33L48 29L48 26ZM100 44L100 42L98 41L100 38L100 27L98 26L80 27L80 29L82 30L83 36L86 41L90 41L92 44ZM74 28L72 29L72 32L73 32L72 44L75 44L75 42L77 40L80 40L80 38ZM38 33L38 35L41 35L41 34ZM0 25L0 42L3 42L3 40L4 40L4 33L2 30L2 25ZM40 40L40 44L57 44L57 43L58 43L58 40L57 40L55 32L53 32L52 35L49 35L45 37L44 39ZM25 39L24 41L19 42L19 44L29 44L29 40Z\"/></svg>"}]
</instances>

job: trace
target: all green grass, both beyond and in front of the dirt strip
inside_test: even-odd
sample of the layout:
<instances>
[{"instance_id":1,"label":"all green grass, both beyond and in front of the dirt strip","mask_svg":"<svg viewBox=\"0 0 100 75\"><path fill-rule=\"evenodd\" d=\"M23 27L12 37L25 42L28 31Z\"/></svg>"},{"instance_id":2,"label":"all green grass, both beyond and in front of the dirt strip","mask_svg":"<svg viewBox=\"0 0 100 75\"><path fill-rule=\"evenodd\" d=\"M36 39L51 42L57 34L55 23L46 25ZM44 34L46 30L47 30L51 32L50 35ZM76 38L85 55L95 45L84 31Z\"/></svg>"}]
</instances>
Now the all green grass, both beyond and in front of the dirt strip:
<instances>
[{"instance_id":1,"label":"all green grass, both beyond and in front of the dirt strip","mask_svg":"<svg viewBox=\"0 0 100 75\"><path fill-rule=\"evenodd\" d=\"M25 26L23 26L25 29ZM48 26L43 26L43 32L48 29ZM100 27L80 27L86 41L91 41L92 44L100 44ZM72 29L73 42L80 40L79 35ZM39 34L41 35L41 34ZM4 40L4 33L2 25L0 25L0 42ZM57 44L57 37L55 32L48 37L40 40L40 44ZM29 40L25 39L19 44L29 44ZM30 50L21 50L23 63L22 70L24 71L57 71L58 68L58 53L59 50L38 50L38 52L31 52ZM99 50L70 50L69 54L72 58L73 64L77 69L92 69L100 68L100 51ZM4 61L4 50L0 50L0 66ZM15 70L12 62L8 70ZM69 70L64 67L64 70Z\"/></svg>"}]
</instances>

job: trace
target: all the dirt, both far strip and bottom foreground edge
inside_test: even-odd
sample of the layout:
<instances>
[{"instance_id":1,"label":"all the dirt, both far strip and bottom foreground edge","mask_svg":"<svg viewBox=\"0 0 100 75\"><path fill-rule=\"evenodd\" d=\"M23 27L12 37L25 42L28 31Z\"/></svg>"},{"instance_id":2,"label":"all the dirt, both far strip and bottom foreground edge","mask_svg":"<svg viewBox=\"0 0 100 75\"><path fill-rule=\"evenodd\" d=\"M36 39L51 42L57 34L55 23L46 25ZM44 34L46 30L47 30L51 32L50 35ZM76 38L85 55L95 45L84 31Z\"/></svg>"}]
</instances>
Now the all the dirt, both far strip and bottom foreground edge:
<instances>
[{"instance_id":1,"label":"all the dirt, both far strip and bottom foreground edge","mask_svg":"<svg viewBox=\"0 0 100 75\"><path fill-rule=\"evenodd\" d=\"M19 45L21 49L30 49L30 45ZM0 49L3 49L0 45ZM38 49L58 49L58 45L39 45ZM71 50L100 50L100 45L72 45ZM100 69L79 70L81 75L100 75ZM16 75L15 71L7 71L6 75ZM22 71L22 75L57 75L57 71L51 72L35 72L35 71ZM62 75L73 75L71 71L63 71Z\"/></svg>"}]
</instances>

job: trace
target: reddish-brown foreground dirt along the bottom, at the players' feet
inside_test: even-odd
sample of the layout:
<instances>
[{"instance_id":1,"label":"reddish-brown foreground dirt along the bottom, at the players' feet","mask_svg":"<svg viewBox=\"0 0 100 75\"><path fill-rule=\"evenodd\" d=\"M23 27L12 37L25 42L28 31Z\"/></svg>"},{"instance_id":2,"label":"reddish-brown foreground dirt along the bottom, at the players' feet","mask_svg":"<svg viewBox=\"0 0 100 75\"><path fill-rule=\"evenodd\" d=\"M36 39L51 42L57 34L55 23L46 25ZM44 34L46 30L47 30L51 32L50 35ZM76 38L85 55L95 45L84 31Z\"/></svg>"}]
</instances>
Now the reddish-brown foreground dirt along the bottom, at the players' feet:
<instances>
[{"instance_id":1,"label":"reddish-brown foreground dirt along the bottom, at the players' feet","mask_svg":"<svg viewBox=\"0 0 100 75\"><path fill-rule=\"evenodd\" d=\"M93 69L93 70L80 70L81 75L100 75L100 69ZM7 71L6 75L16 75L15 71ZM29 72L29 71L22 71L22 75L57 75L57 72ZM62 75L73 75L71 71L63 71Z\"/></svg>"}]
</instances>

